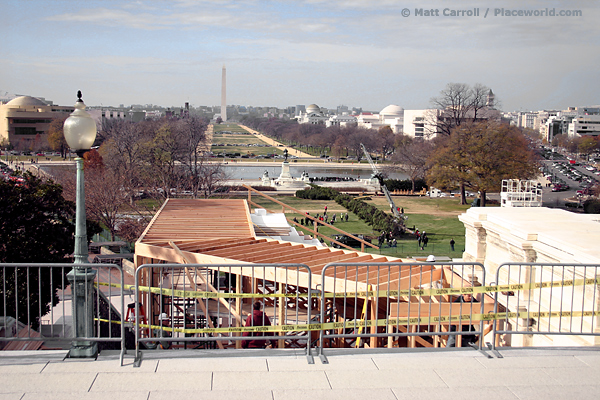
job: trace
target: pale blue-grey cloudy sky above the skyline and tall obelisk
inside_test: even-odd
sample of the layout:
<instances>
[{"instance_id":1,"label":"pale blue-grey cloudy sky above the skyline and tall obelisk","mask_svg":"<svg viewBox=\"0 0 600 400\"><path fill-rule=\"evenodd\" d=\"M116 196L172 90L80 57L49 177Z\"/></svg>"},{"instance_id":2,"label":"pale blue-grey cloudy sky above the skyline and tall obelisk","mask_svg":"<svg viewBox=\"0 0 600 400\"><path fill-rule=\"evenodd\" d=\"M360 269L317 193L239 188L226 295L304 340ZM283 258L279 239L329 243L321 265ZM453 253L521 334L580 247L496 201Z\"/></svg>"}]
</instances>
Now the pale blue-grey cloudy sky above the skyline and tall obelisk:
<instances>
[{"instance_id":1,"label":"pale blue-grey cloudy sky above the skyline and tall obelisk","mask_svg":"<svg viewBox=\"0 0 600 400\"><path fill-rule=\"evenodd\" d=\"M454 82L490 87L504 111L600 104L597 0L0 0L0 10L0 96L213 106L225 65L229 105L423 109Z\"/></svg>"}]
</instances>

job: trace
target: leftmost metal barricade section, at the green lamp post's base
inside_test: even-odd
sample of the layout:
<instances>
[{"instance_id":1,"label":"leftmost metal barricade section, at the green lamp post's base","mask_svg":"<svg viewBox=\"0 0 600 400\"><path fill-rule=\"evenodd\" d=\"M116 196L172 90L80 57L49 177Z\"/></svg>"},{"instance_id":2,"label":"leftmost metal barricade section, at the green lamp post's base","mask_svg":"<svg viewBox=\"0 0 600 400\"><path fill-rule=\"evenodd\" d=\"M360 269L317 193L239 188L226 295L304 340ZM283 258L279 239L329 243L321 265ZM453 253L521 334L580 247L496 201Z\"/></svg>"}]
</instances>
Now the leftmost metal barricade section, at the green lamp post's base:
<instances>
[{"instance_id":1,"label":"leftmost metal barricade section, at the green lamp post's base","mask_svg":"<svg viewBox=\"0 0 600 400\"><path fill-rule=\"evenodd\" d=\"M95 273L81 278L70 274L74 267L90 268ZM88 282L87 276L93 276L93 282ZM106 348L113 343L112 346L121 350L123 365L123 290L118 293L111 290L123 285L121 267L114 264L3 263L0 264L0 279L1 349L39 349L45 343L65 347L73 341L102 342ZM92 335L75 336L72 288L77 285L85 291L84 300L81 300L85 304L81 306L92 312L92 318L85 318L83 322L84 332L93 332ZM90 323L93 326L90 327Z\"/></svg>"}]
</instances>

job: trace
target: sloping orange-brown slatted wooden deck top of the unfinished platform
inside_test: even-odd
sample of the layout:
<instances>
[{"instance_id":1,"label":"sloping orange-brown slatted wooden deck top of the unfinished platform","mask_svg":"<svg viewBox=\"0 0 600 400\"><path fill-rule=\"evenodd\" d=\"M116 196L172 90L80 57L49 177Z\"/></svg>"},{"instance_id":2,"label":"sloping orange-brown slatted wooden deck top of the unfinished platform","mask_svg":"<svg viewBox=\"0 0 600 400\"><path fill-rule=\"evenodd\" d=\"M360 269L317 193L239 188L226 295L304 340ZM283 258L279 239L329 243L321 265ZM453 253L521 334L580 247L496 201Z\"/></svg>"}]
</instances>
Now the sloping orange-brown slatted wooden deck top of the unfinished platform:
<instances>
[{"instance_id":1,"label":"sloping orange-brown slatted wooden deck top of the unfinished platform","mask_svg":"<svg viewBox=\"0 0 600 400\"><path fill-rule=\"evenodd\" d=\"M401 261L357 251L258 239L245 200L169 199L136 243L136 256L181 263L182 254L189 262L199 264L305 264L315 275L334 262ZM364 278L360 273L355 277ZM387 281L388 277L382 279Z\"/></svg>"}]
</instances>

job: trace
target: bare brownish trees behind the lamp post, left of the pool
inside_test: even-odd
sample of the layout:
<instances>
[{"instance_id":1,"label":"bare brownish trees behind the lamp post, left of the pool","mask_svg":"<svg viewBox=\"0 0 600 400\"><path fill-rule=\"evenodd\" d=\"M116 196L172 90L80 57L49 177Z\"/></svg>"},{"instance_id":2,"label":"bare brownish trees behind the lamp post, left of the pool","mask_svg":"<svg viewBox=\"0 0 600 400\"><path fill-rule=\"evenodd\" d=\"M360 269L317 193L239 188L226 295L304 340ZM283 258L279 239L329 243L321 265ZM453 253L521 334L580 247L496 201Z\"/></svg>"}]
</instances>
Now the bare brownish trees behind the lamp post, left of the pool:
<instances>
[{"instance_id":1,"label":"bare brownish trees behind the lamp post, left of the pool","mask_svg":"<svg viewBox=\"0 0 600 400\"><path fill-rule=\"evenodd\" d=\"M164 199L186 193L209 197L227 177L220 163L204 155L208 120L198 117L130 122L108 120L98 150L84 155L87 215L113 237L135 241L154 210L136 199ZM62 131L53 124L51 136ZM75 198L75 173L54 170L67 199ZM130 210L124 215L124 210Z\"/></svg>"}]
</instances>

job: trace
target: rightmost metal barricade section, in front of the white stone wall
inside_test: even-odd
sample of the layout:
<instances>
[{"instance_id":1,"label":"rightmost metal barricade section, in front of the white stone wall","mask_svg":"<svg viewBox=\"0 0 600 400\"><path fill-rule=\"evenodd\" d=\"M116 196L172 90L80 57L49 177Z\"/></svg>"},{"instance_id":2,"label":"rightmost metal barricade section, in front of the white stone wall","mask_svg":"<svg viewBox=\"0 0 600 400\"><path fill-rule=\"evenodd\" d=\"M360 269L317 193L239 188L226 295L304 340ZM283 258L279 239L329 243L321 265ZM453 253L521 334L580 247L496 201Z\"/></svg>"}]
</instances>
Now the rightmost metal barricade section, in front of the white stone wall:
<instances>
[{"instance_id":1,"label":"rightmost metal barricade section, in front of the white stone wall","mask_svg":"<svg viewBox=\"0 0 600 400\"><path fill-rule=\"evenodd\" d=\"M598 264L505 263L496 271L493 348L592 346L600 336Z\"/></svg>"}]
</instances>

